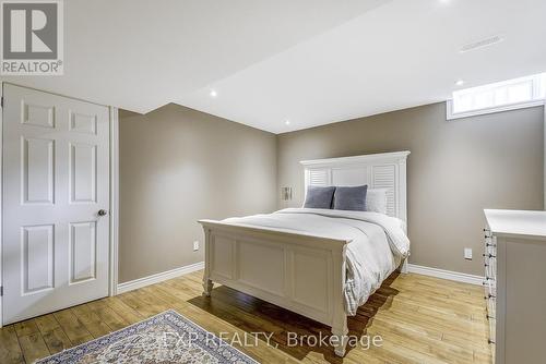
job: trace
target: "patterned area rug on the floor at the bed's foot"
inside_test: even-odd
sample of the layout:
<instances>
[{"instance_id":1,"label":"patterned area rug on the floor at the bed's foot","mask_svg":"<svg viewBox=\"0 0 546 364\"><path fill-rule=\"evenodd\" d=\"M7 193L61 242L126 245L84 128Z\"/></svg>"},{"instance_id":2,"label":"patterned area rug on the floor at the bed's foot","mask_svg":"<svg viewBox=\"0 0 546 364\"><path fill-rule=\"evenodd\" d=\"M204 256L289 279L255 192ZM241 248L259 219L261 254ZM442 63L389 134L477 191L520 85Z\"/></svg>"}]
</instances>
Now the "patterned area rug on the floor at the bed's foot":
<instances>
[{"instance_id":1,"label":"patterned area rug on the floor at the bed's foot","mask_svg":"<svg viewBox=\"0 0 546 364\"><path fill-rule=\"evenodd\" d=\"M39 364L258 363L175 311L43 359Z\"/></svg>"}]
</instances>

